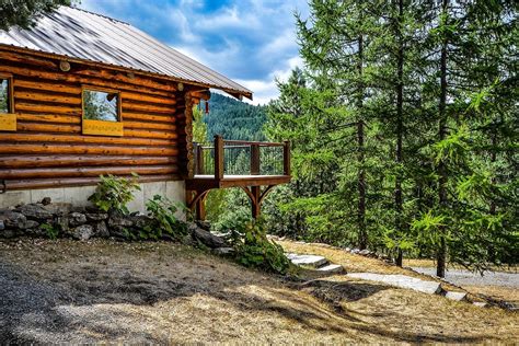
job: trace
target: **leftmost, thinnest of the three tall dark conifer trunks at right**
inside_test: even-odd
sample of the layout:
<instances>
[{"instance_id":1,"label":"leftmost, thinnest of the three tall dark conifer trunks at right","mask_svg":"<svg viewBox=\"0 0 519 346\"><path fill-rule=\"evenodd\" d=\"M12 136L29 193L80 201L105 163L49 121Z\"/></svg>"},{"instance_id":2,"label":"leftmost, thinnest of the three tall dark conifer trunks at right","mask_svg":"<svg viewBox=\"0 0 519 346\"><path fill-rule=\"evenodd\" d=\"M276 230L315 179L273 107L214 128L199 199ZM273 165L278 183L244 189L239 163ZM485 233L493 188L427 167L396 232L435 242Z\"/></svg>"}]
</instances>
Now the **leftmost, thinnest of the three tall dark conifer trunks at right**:
<instances>
[{"instance_id":1,"label":"leftmost, thinnest of the three tall dark conifer trunks at right","mask_svg":"<svg viewBox=\"0 0 519 346\"><path fill-rule=\"evenodd\" d=\"M366 230L366 171L365 171L365 132L364 132L364 119L362 119L362 107L364 107L364 37L358 38L358 73L359 73L359 86L357 95L357 164L358 164L358 181L357 189L359 194L358 207L357 207L357 223L359 228L359 249L364 250L368 246L368 232Z\"/></svg>"}]
</instances>

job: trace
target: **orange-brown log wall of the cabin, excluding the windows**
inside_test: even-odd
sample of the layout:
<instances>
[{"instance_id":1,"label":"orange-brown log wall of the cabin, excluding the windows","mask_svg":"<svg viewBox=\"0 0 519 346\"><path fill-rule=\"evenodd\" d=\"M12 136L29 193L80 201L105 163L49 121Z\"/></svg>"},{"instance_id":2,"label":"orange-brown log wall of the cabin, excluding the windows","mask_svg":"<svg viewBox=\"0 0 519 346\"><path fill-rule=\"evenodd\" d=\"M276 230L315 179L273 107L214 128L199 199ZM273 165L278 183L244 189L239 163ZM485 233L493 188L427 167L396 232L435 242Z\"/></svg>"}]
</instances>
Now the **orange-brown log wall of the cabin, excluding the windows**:
<instances>
[{"instance_id":1,"label":"orange-brown log wall of the cabin, excluding the windows","mask_svg":"<svg viewBox=\"0 0 519 346\"><path fill-rule=\"evenodd\" d=\"M2 49L0 73L13 77L18 118L15 132L0 131L7 189L91 185L106 173L135 172L142 181L187 176L188 88L178 92L172 81L76 62L62 72L58 59ZM120 91L123 137L81 134L83 85Z\"/></svg>"}]
</instances>

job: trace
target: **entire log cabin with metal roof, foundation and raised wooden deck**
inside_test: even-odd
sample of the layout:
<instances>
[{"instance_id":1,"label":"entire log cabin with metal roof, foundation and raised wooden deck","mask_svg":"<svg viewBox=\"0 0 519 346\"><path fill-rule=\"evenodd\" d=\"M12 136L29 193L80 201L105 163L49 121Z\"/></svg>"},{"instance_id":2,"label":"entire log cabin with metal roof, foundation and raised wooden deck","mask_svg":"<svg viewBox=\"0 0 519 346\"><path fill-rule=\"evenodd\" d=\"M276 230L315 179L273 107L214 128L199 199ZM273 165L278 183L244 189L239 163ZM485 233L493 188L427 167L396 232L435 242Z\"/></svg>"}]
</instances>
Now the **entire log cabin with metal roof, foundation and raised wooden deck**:
<instances>
[{"instance_id":1,"label":"entire log cabin with metal roof, foundation and raised wooden deck","mask_svg":"<svg viewBox=\"0 0 519 346\"><path fill-rule=\"evenodd\" d=\"M85 205L101 174L137 173L131 210L160 194L203 218L210 189L240 187L257 217L266 194L290 180L289 145L219 136L194 143L193 107L210 89L252 100L239 83L96 13L60 7L30 30L0 31L0 208L44 197ZM237 150L247 172L232 171Z\"/></svg>"}]
</instances>

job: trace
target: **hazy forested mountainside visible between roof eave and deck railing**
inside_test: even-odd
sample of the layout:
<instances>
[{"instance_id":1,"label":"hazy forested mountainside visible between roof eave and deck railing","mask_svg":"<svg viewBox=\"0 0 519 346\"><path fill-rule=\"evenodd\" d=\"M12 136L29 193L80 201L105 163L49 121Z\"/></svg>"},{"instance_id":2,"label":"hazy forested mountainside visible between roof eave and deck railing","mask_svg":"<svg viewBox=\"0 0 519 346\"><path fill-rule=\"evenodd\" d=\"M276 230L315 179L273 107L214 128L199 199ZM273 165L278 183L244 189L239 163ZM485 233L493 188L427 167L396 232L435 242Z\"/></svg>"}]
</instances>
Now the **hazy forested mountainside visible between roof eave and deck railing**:
<instances>
[{"instance_id":1,"label":"hazy forested mountainside visible between roof eave and deck railing","mask_svg":"<svg viewBox=\"0 0 519 346\"><path fill-rule=\"evenodd\" d=\"M205 109L205 104L200 104ZM215 135L224 139L265 140L263 124L266 122L266 107L254 106L221 94L211 93L209 114L204 115L207 124L207 139Z\"/></svg>"}]
</instances>

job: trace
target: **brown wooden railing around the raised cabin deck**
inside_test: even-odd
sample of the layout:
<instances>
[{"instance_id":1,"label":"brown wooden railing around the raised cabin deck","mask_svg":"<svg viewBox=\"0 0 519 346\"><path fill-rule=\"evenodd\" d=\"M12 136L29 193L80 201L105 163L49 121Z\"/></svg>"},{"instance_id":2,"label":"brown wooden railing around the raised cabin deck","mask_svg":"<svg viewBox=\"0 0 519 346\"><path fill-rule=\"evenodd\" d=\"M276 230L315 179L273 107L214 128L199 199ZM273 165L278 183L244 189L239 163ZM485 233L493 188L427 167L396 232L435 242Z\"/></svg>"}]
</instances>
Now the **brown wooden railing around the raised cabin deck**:
<instances>
[{"instance_id":1,"label":"brown wooden railing around the raised cabin deck","mask_svg":"<svg viewBox=\"0 0 519 346\"><path fill-rule=\"evenodd\" d=\"M215 136L212 145L195 143L195 174L290 175L290 143L226 140Z\"/></svg>"}]
</instances>

